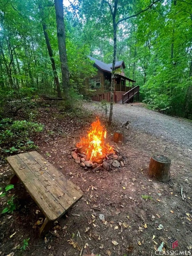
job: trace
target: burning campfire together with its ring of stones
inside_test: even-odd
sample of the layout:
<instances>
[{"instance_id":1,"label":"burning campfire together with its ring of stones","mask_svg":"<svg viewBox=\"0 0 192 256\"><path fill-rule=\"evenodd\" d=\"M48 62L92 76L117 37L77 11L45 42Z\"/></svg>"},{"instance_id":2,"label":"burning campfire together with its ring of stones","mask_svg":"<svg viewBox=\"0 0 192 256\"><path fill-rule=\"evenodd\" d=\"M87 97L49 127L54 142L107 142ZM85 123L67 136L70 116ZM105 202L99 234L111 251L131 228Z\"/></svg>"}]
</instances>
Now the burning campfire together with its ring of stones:
<instances>
[{"instance_id":1,"label":"burning campfire together with its ring of stones","mask_svg":"<svg viewBox=\"0 0 192 256\"><path fill-rule=\"evenodd\" d=\"M92 168L99 170L102 167L110 170L111 166L120 168L124 166L123 158L119 156L118 150L106 143L107 131L101 125L99 119L91 124L87 136L81 138L73 149L71 155L75 162L85 170Z\"/></svg>"}]
</instances>

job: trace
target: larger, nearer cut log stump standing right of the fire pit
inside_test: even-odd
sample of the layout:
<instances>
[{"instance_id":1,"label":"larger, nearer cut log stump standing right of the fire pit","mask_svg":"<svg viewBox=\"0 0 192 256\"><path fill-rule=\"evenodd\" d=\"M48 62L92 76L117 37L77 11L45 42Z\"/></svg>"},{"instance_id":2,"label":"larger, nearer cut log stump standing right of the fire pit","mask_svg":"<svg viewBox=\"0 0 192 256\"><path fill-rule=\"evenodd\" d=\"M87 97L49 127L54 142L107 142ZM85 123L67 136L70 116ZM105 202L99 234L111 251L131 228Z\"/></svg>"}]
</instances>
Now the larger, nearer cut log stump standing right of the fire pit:
<instances>
[{"instance_id":1,"label":"larger, nearer cut log stump standing right of the fire pit","mask_svg":"<svg viewBox=\"0 0 192 256\"><path fill-rule=\"evenodd\" d=\"M171 160L163 155L154 155L150 158L148 174L158 181L167 182L170 179Z\"/></svg>"}]
</instances>

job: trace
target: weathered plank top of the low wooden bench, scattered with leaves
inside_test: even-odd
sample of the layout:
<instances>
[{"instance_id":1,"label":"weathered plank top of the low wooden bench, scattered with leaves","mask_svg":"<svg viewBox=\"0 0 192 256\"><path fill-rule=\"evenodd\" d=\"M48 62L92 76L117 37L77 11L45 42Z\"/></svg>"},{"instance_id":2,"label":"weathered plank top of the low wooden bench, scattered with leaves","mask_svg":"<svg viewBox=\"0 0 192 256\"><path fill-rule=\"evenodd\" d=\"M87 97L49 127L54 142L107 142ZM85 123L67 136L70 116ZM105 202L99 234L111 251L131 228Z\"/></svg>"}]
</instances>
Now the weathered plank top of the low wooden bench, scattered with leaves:
<instances>
[{"instance_id":1,"label":"weathered plank top of the low wooden bench, scattered with leaves","mask_svg":"<svg viewBox=\"0 0 192 256\"><path fill-rule=\"evenodd\" d=\"M50 221L62 216L83 196L78 186L36 151L9 156L7 161Z\"/></svg>"}]
</instances>

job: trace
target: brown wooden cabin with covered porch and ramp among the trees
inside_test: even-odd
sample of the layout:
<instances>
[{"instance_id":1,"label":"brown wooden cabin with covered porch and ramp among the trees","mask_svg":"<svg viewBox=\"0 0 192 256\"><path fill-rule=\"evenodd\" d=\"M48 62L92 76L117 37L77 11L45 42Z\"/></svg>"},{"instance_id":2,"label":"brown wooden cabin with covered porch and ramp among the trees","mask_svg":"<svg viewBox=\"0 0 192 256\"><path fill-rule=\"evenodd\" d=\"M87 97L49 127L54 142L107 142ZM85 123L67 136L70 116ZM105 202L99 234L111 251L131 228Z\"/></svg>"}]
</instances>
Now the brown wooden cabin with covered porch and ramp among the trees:
<instances>
[{"instance_id":1,"label":"brown wooden cabin with covered porch and ramp among the trees","mask_svg":"<svg viewBox=\"0 0 192 256\"><path fill-rule=\"evenodd\" d=\"M82 94L88 93L91 89L93 100L101 101L106 100L110 102L110 86L111 86L111 72L112 63L106 64L91 56L88 58L94 61L94 67L97 68L97 74L85 79L85 89ZM139 99L139 86L135 86L134 80L125 76L124 73L125 63L123 60L115 62L115 88L114 99L116 103L129 103L133 102L136 95L136 100Z\"/></svg>"}]
</instances>

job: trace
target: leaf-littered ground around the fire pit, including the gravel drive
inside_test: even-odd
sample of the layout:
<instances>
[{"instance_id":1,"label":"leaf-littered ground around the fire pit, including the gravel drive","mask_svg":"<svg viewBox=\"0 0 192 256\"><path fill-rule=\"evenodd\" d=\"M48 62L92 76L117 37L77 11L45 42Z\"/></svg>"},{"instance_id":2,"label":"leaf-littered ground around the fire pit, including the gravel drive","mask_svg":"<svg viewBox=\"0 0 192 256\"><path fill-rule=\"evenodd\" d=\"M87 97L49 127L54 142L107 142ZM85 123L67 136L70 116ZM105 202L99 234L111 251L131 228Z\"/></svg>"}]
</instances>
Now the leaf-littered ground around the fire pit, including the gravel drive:
<instances>
[{"instance_id":1,"label":"leaf-littered ground around the fire pit, including the gravel drive","mask_svg":"<svg viewBox=\"0 0 192 256\"><path fill-rule=\"evenodd\" d=\"M71 149L80 136L86 135L95 117L101 115L101 108L99 103L84 105L85 109L74 113L65 113L53 103L49 108L39 108L37 121L45 125L45 130L34 138L38 152L81 188L83 198L52 226L46 239L39 239L37 221L44 216L19 183L14 188L19 207L13 214L0 215L0 255L14 252L14 255L79 256L80 251L69 244L72 239L80 248L87 245L83 255L93 252L107 256L152 256L157 254L155 250L162 241L166 251L172 250L166 246L172 237L178 240L178 247L173 250L186 251L183 255L189 255L192 248L191 122L137 104L114 105L113 125L106 125L106 129L109 143L125 157L125 167L85 171L71 158ZM125 130L125 143L113 143L113 132L120 129L127 117L131 123ZM105 123L104 117L101 120ZM189 136L187 141L185 134ZM154 153L172 160L168 183L151 180L147 174ZM7 185L11 173L10 166L1 165L2 187ZM186 195L184 200L181 187ZM144 199L143 195L151 199ZM0 211L2 204L3 199ZM99 219L99 214L105 216L105 221ZM30 240L26 251L13 249L27 238Z\"/></svg>"}]
</instances>

